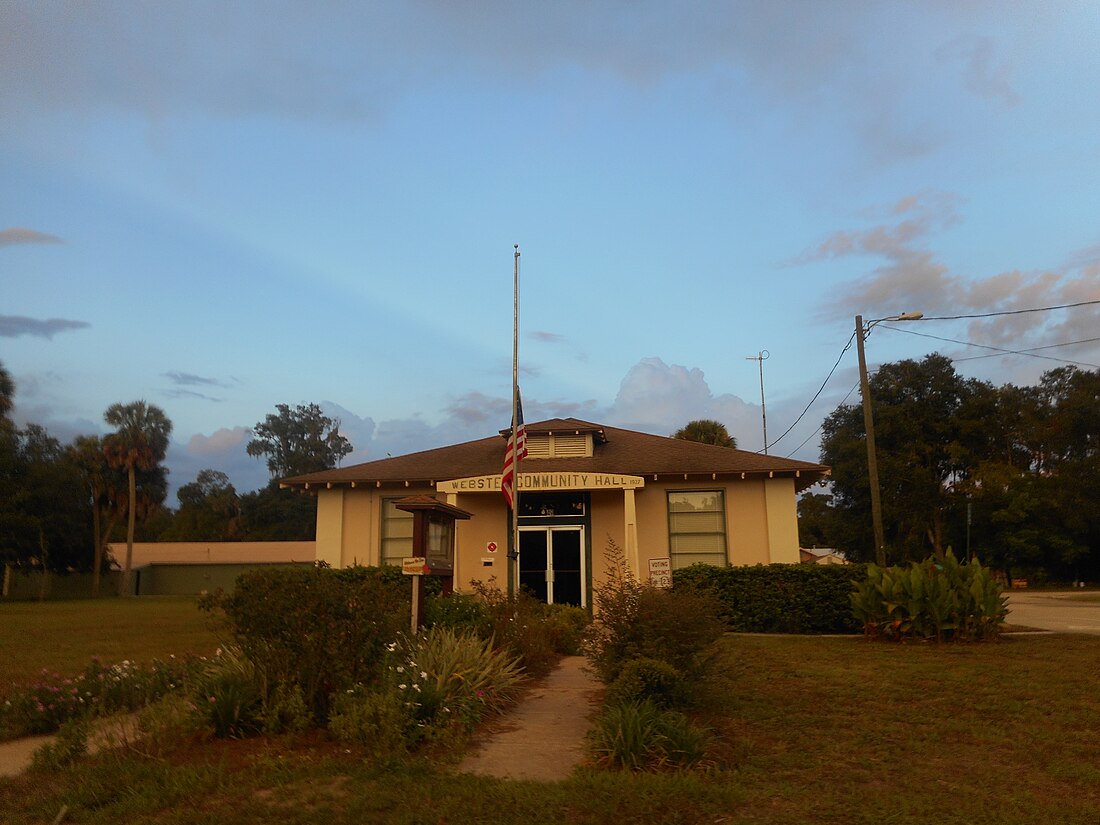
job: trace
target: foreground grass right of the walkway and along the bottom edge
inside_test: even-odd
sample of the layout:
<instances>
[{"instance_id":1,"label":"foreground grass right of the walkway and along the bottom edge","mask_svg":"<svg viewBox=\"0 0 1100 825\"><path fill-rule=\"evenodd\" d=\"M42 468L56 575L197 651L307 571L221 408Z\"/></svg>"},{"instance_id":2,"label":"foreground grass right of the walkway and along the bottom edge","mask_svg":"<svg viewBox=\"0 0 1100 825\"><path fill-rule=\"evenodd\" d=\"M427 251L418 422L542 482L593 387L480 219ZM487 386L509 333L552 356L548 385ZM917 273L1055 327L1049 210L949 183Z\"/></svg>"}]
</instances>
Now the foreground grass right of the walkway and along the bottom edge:
<instances>
[{"instance_id":1,"label":"foreground grass right of the walkway and along the bottom edge","mask_svg":"<svg viewBox=\"0 0 1100 825\"><path fill-rule=\"evenodd\" d=\"M209 741L0 780L0 821L68 805L74 823L1100 822L1100 638L723 645L707 774L540 784L454 776L441 755L380 768L322 735Z\"/></svg>"}]
</instances>

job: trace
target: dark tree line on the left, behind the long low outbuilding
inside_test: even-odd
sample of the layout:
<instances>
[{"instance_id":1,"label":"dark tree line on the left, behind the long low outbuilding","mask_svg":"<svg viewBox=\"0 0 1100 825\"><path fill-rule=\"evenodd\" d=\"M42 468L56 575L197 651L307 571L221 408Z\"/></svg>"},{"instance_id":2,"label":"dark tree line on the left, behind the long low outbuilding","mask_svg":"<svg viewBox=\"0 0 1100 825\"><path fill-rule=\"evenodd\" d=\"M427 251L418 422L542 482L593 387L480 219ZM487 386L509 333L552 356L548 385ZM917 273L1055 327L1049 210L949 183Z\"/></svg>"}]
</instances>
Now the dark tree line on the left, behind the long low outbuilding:
<instances>
[{"instance_id":1,"label":"dark tree line on the left, behind the long low outbuilding","mask_svg":"<svg viewBox=\"0 0 1100 825\"><path fill-rule=\"evenodd\" d=\"M63 444L40 425L14 425L14 395L0 364L0 564L91 573L94 594L109 542L127 543L116 561L129 592L134 541L314 539L316 499L279 490L277 480L336 466L352 450L340 422L317 405L280 404L248 444L250 455L266 457L265 487L239 494L226 473L206 469L179 487L170 508L164 460L172 421L163 409L143 400L111 405L103 414L111 432Z\"/></svg>"}]
</instances>

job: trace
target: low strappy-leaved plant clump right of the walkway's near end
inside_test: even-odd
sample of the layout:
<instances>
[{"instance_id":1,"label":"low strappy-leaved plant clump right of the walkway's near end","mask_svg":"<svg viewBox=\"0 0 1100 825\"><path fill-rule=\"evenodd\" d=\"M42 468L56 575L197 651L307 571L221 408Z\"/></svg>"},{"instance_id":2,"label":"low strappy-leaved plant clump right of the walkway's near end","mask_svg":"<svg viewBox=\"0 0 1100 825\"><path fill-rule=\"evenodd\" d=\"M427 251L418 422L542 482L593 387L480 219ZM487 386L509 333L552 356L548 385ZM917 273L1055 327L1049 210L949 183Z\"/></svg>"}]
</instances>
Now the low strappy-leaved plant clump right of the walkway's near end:
<instances>
[{"instance_id":1,"label":"low strappy-leaved plant clump right of the walkway's near end","mask_svg":"<svg viewBox=\"0 0 1100 825\"><path fill-rule=\"evenodd\" d=\"M609 704L588 734L596 767L630 771L701 767L708 744L706 730L652 702Z\"/></svg>"}]
</instances>

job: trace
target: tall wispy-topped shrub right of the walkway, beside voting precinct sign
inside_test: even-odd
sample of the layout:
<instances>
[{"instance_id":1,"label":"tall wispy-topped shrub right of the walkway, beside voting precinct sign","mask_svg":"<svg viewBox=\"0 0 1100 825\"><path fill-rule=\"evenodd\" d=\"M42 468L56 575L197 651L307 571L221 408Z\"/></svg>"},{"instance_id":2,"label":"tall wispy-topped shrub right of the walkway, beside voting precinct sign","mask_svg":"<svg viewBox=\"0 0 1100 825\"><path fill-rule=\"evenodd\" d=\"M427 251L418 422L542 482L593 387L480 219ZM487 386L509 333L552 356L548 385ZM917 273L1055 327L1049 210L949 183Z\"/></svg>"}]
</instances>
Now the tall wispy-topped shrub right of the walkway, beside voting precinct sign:
<instances>
[{"instance_id":1,"label":"tall wispy-topped shrub right of the walkway, beside voting precinct sign","mask_svg":"<svg viewBox=\"0 0 1100 825\"><path fill-rule=\"evenodd\" d=\"M700 590L640 585L614 541L606 558L608 574L595 590L596 616L585 641L600 678L610 684L639 658L667 662L689 680L702 676L706 649L724 631L717 601Z\"/></svg>"}]
</instances>

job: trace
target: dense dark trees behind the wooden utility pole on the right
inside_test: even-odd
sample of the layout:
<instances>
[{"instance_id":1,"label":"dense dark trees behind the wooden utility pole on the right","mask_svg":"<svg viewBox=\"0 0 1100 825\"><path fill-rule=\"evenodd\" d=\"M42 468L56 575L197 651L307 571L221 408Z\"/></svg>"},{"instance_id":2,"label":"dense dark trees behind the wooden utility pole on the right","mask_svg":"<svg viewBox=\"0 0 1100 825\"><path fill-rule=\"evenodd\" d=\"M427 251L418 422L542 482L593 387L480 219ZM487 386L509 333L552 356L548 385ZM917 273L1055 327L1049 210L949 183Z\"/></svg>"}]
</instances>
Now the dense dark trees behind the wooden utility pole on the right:
<instances>
[{"instance_id":1,"label":"dense dark trees behind the wooden utility pole on the right","mask_svg":"<svg viewBox=\"0 0 1100 825\"><path fill-rule=\"evenodd\" d=\"M994 386L931 354L883 364L870 397L888 563L953 548L1009 578L1100 579L1100 373ZM873 560L861 407L825 419L821 462L833 474L799 503L801 543Z\"/></svg>"}]
</instances>

